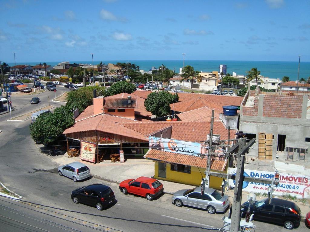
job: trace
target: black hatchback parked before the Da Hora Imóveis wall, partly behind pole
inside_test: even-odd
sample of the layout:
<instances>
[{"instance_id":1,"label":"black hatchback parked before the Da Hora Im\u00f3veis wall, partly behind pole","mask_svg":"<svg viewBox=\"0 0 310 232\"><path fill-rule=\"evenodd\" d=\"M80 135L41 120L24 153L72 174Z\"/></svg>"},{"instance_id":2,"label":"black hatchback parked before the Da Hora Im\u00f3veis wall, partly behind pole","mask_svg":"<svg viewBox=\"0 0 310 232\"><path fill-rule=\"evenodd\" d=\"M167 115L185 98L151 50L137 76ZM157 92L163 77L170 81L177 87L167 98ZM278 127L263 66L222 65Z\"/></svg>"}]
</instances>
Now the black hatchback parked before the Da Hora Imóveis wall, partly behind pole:
<instances>
[{"instance_id":1,"label":"black hatchback parked before the Da Hora Im\u00f3veis wall, partly behind pole","mask_svg":"<svg viewBox=\"0 0 310 232\"><path fill-rule=\"evenodd\" d=\"M248 206L248 202L241 205L242 217L245 216ZM255 201L250 206L250 211L254 213L254 220L283 225L289 230L298 227L301 220L301 212L297 204L278 198L272 198L270 204L268 199Z\"/></svg>"}]
</instances>

